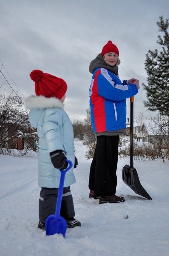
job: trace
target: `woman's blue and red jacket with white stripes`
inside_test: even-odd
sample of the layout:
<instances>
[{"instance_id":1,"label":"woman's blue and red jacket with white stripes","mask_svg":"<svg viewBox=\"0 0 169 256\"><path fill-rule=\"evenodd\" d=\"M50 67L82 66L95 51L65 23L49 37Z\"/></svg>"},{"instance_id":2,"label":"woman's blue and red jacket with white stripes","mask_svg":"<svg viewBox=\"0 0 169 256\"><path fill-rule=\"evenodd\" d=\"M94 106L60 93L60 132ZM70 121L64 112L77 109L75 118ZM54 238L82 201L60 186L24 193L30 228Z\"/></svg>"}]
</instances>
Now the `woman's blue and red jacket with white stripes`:
<instances>
[{"instance_id":1,"label":"woman's blue and red jacket with white stripes","mask_svg":"<svg viewBox=\"0 0 169 256\"><path fill-rule=\"evenodd\" d=\"M136 85L122 83L107 69L95 69L89 89L94 133L126 128L126 98L137 93Z\"/></svg>"}]
</instances>

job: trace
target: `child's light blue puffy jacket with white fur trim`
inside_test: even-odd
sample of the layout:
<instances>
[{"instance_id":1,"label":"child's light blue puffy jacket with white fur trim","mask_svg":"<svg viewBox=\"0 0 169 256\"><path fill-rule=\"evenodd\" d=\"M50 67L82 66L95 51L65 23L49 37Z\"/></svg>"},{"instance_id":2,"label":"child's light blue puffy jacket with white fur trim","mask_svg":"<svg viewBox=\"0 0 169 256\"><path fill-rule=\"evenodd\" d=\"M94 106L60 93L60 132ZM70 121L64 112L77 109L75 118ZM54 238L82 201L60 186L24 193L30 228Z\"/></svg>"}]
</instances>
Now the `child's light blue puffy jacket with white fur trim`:
<instances>
[{"instance_id":1,"label":"child's light blue puffy jacket with white fur trim","mask_svg":"<svg viewBox=\"0 0 169 256\"><path fill-rule=\"evenodd\" d=\"M31 125L37 128L39 137L38 185L58 188L60 171L54 168L49 153L57 149L65 152L66 158L74 166L74 134L68 114L63 110L63 103L55 97L30 96L25 99ZM75 183L73 167L66 173L64 187Z\"/></svg>"}]
</instances>

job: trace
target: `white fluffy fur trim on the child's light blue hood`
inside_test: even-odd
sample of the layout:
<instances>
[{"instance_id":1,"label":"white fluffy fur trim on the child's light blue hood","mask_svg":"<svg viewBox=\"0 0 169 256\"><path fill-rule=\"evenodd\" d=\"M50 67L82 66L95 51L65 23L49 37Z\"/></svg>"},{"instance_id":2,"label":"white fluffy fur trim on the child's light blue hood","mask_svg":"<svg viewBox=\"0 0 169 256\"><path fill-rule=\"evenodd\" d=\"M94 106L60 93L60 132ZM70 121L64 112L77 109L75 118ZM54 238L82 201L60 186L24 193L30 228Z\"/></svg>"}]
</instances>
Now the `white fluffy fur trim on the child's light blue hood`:
<instances>
[{"instance_id":1,"label":"white fluffy fur trim on the child's light blue hood","mask_svg":"<svg viewBox=\"0 0 169 256\"><path fill-rule=\"evenodd\" d=\"M63 103L58 98L46 98L44 96L31 95L25 98L27 108L53 108L58 107L63 109Z\"/></svg>"}]
</instances>

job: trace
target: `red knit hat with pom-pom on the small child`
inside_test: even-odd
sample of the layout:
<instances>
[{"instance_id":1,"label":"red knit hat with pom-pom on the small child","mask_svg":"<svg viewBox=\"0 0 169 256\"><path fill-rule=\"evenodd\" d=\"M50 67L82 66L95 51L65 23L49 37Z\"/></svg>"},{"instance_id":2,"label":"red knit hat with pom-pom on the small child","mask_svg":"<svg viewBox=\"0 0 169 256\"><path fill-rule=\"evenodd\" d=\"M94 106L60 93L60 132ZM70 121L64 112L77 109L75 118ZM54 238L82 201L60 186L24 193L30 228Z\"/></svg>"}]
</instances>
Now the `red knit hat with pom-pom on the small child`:
<instances>
[{"instance_id":1,"label":"red knit hat with pom-pom on the small child","mask_svg":"<svg viewBox=\"0 0 169 256\"><path fill-rule=\"evenodd\" d=\"M30 78L35 82L37 96L56 97L60 100L65 95L68 87L62 78L43 73L38 69L30 73Z\"/></svg>"}]
</instances>

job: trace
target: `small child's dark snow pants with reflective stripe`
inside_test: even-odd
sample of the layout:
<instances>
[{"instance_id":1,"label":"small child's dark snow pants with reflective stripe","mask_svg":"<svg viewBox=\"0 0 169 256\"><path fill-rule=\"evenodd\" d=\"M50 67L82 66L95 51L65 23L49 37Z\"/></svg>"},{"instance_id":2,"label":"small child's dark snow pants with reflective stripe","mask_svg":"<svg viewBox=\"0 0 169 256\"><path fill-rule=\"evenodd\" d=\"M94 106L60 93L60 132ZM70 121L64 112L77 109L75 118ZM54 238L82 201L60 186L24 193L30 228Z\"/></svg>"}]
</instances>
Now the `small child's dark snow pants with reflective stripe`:
<instances>
[{"instance_id":1,"label":"small child's dark snow pants with reflective stripe","mask_svg":"<svg viewBox=\"0 0 169 256\"><path fill-rule=\"evenodd\" d=\"M58 196L58 188L41 188L39 198L39 220L45 223L49 215L55 214ZM74 203L69 187L63 188L60 215L64 219L75 216Z\"/></svg>"}]
</instances>

